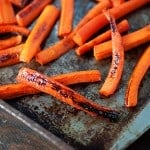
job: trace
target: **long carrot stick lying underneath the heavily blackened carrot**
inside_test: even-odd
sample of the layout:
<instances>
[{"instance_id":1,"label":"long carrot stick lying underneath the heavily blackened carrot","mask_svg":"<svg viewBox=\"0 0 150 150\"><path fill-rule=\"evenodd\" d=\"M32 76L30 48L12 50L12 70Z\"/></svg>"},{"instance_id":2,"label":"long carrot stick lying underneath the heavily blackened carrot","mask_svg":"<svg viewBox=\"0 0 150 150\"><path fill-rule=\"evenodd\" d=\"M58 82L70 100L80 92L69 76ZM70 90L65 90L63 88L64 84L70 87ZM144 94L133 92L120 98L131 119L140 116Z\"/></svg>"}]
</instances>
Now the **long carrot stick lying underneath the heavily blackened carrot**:
<instances>
[{"instance_id":1,"label":"long carrot stick lying underneath the heavily blackened carrot","mask_svg":"<svg viewBox=\"0 0 150 150\"><path fill-rule=\"evenodd\" d=\"M101 74L98 70L87 70L55 75L51 76L50 78L64 85L71 85L77 83L100 81ZM1 99L12 99L37 93L40 93L40 91L23 83L7 84L0 86Z\"/></svg>"}]
</instances>

